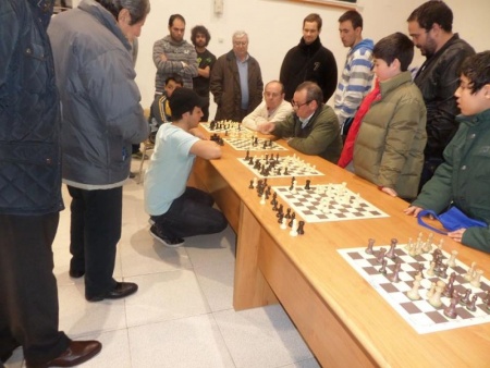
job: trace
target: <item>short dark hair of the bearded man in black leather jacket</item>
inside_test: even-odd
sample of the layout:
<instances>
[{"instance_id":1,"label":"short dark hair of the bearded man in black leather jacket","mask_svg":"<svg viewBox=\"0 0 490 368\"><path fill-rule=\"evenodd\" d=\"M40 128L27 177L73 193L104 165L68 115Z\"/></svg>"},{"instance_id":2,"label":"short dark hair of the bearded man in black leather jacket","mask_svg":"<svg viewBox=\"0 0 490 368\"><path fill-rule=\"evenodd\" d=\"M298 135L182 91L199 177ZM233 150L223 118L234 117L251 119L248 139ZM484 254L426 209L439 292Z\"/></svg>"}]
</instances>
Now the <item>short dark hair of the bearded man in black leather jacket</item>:
<instances>
[{"instance_id":1,"label":"short dark hair of the bearded man in black leather jacket","mask_svg":"<svg viewBox=\"0 0 490 368\"><path fill-rule=\"evenodd\" d=\"M445 32L452 32L453 29L453 12L441 0L422 3L412 12L406 21L418 22L420 28L426 30L430 30L434 23L439 24Z\"/></svg>"}]
</instances>

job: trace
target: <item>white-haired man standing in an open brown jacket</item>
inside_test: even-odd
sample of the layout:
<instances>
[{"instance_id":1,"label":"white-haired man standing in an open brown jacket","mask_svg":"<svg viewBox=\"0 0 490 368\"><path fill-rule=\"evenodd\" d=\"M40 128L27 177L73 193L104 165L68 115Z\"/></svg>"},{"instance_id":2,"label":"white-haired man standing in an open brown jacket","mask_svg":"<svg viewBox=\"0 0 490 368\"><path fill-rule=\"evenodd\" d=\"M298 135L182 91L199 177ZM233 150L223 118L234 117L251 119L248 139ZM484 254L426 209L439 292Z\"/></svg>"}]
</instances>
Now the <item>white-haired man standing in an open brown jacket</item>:
<instances>
[{"instance_id":1,"label":"white-haired man standing in an open brown jacket","mask_svg":"<svg viewBox=\"0 0 490 368\"><path fill-rule=\"evenodd\" d=\"M233 49L221 56L211 71L210 89L218 105L216 120L241 122L262 100L262 74L248 53L248 35L233 34Z\"/></svg>"}]
</instances>

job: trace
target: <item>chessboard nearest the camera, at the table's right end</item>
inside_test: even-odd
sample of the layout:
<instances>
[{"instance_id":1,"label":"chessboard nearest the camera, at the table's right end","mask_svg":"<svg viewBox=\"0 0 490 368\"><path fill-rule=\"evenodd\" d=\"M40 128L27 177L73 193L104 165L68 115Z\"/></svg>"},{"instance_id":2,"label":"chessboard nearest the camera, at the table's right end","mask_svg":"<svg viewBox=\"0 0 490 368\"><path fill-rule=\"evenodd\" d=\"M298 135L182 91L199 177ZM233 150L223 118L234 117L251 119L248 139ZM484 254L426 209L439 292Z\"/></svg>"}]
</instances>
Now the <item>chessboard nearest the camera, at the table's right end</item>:
<instances>
[{"instance_id":1,"label":"chessboard nearest the camera, at the table's right end","mask_svg":"<svg viewBox=\"0 0 490 368\"><path fill-rule=\"evenodd\" d=\"M428 244L431 245L432 249L440 249L431 241ZM377 259L381 248L383 247L373 247L372 254L367 254L366 247L338 249L338 252L417 333L431 333L490 322L489 280L479 274L479 282L476 283L479 284L478 286L468 281L471 277L475 277L475 271L479 271L475 268L475 263L469 268L460 260L454 260L453 257L453 266L448 266L443 274L433 274L433 271L429 272L433 268L430 265L434 258L432 250L414 255L413 252L407 250L406 244L399 244L394 248L394 259L384 257L388 261L385 262L385 273L383 273L380 272L383 266ZM390 248L389 245L384 246L384 249L388 248ZM441 253L443 262L448 265L451 256L444 250L441 250ZM401 266L399 266L397 280L393 282L396 262L400 262ZM451 274L454 278L453 290L457 294L453 292L452 296L441 295L441 305L432 306L429 303L429 292L433 293L433 287L438 282L441 285L443 285L442 282L448 284ZM419 281L416 281L416 279ZM416 287L419 295L418 299L413 299L407 295L414 290L415 282L418 282ZM473 302L474 311L470 310L473 308L468 309L470 305L468 300L471 298L475 298ZM446 317L445 312L452 300L454 315L450 318ZM378 317L373 316L373 318Z\"/></svg>"}]
</instances>

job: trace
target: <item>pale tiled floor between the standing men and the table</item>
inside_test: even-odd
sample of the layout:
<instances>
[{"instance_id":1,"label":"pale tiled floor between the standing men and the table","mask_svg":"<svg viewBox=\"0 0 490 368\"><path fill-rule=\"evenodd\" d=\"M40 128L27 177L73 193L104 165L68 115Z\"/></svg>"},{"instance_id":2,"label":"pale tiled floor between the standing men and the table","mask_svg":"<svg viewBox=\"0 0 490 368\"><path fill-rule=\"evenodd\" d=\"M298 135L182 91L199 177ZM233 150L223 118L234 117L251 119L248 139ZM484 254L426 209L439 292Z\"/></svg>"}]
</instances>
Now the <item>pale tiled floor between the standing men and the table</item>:
<instances>
[{"instance_id":1,"label":"pale tiled floor between the standing men and the table","mask_svg":"<svg viewBox=\"0 0 490 368\"><path fill-rule=\"evenodd\" d=\"M63 196L68 208L65 189ZM114 277L139 290L122 300L87 303L83 279L68 274L70 211L61 212L53 244L60 328L72 339L103 344L83 367L319 367L281 306L234 311L230 228L171 249L150 237L147 219L143 184L130 180ZM24 367L22 351L5 366Z\"/></svg>"}]
</instances>

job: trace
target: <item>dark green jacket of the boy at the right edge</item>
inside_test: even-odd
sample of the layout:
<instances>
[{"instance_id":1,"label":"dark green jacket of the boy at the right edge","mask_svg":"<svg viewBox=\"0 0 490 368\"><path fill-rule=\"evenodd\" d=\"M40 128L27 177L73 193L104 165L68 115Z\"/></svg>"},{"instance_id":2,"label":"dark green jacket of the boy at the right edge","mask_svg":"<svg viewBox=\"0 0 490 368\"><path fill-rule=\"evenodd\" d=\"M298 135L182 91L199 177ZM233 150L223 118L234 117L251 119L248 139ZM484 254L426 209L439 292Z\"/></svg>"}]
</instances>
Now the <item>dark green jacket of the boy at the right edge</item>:
<instances>
[{"instance_id":1,"label":"dark green jacket of the boy at the right edge","mask_svg":"<svg viewBox=\"0 0 490 368\"><path fill-rule=\"evenodd\" d=\"M444 150L444 163L413 203L436 212L451 203L471 219L490 224L490 110L456 118L460 128ZM490 253L490 226L469 228L462 243Z\"/></svg>"}]
</instances>

